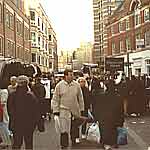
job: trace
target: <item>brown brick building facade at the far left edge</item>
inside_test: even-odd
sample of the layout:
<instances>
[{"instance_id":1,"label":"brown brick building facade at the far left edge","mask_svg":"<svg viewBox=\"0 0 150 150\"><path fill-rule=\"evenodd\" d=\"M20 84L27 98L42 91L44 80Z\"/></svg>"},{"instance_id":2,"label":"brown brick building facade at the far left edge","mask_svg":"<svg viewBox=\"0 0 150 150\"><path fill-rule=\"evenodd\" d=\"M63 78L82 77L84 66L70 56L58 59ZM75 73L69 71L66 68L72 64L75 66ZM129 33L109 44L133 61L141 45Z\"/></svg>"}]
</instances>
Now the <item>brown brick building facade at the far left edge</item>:
<instances>
[{"instance_id":1,"label":"brown brick building facade at the far left edge","mask_svg":"<svg viewBox=\"0 0 150 150\"><path fill-rule=\"evenodd\" d=\"M0 59L31 62L30 20L23 0L0 0Z\"/></svg>"}]
</instances>

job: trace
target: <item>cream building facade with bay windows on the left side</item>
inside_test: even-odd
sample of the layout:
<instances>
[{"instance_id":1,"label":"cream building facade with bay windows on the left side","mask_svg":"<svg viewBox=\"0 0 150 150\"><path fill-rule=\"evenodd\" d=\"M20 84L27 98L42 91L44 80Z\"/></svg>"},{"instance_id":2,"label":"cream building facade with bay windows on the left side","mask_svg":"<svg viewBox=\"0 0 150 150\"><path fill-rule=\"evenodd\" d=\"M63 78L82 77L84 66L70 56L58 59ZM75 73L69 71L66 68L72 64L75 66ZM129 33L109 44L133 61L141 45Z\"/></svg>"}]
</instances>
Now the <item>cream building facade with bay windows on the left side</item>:
<instances>
[{"instance_id":1,"label":"cream building facade with bay windows on the left side","mask_svg":"<svg viewBox=\"0 0 150 150\"><path fill-rule=\"evenodd\" d=\"M57 70L57 39L42 5L30 5L32 63L42 72Z\"/></svg>"}]
</instances>

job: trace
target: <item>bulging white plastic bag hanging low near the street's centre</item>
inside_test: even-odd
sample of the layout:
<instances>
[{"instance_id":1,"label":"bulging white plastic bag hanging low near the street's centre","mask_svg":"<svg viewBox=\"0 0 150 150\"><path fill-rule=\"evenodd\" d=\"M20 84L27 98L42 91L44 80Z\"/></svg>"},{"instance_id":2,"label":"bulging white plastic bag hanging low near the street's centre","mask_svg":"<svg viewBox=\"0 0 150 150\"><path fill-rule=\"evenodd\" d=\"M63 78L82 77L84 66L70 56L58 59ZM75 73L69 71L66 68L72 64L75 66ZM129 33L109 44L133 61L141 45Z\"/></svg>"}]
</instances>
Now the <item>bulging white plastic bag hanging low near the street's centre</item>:
<instances>
[{"instance_id":1,"label":"bulging white plastic bag hanging low near the street's centre","mask_svg":"<svg viewBox=\"0 0 150 150\"><path fill-rule=\"evenodd\" d=\"M91 142L100 142L100 129L98 122L92 123L87 129L87 140Z\"/></svg>"}]
</instances>

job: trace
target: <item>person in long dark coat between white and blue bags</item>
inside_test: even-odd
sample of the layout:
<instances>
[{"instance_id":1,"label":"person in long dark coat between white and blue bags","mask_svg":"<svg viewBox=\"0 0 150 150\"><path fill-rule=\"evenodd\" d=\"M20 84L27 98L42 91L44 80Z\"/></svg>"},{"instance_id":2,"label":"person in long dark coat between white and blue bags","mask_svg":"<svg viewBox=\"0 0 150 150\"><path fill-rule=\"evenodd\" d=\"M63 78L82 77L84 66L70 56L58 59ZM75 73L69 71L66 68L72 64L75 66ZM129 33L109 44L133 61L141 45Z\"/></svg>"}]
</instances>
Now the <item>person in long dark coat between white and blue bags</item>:
<instances>
[{"instance_id":1,"label":"person in long dark coat between white and blue bags","mask_svg":"<svg viewBox=\"0 0 150 150\"><path fill-rule=\"evenodd\" d=\"M113 81L108 83L106 93L98 85L93 91L93 112L95 119L99 121L101 143L110 149L111 146L117 148L117 127L123 126L124 122L123 102L115 93Z\"/></svg>"}]
</instances>

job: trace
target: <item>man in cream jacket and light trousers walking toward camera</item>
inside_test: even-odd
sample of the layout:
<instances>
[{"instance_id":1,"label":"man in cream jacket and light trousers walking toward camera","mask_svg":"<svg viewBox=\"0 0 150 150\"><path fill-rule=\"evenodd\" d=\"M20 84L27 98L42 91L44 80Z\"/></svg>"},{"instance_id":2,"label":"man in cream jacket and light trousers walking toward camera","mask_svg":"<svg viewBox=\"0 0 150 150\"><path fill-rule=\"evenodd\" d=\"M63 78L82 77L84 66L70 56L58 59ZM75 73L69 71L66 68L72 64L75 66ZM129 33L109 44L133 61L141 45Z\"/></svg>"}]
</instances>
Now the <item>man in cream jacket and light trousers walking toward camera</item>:
<instances>
[{"instance_id":1,"label":"man in cream jacket and light trousers walking toward camera","mask_svg":"<svg viewBox=\"0 0 150 150\"><path fill-rule=\"evenodd\" d=\"M78 118L84 111L84 101L80 85L73 80L73 71L64 71L64 80L55 88L51 102L54 115L59 116L61 129L61 146L68 147L71 127L71 117ZM66 141L67 140L67 141Z\"/></svg>"}]
</instances>

